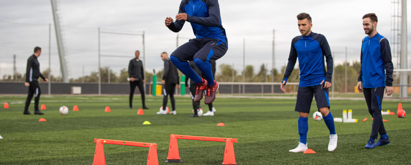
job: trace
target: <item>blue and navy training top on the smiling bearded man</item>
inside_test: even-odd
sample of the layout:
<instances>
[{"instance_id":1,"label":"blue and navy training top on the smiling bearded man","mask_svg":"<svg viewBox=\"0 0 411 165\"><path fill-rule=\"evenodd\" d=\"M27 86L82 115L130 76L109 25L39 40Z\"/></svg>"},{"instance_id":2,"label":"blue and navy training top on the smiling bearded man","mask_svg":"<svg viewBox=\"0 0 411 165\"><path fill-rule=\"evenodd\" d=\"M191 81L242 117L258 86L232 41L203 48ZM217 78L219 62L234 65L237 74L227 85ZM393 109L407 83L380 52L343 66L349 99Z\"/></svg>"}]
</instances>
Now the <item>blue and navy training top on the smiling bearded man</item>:
<instances>
[{"instance_id":1,"label":"blue and navy training top on the smiling bearded man","mask_svg":"<svg viewBox=\"0 0 411 165\"><path fill-rule=\"evenodd\" d=\"M361 46L361 70L358 81L363 88L393 86L393 62L388 40L377 33L365 37Z\"/></svg>"}]
</instances>

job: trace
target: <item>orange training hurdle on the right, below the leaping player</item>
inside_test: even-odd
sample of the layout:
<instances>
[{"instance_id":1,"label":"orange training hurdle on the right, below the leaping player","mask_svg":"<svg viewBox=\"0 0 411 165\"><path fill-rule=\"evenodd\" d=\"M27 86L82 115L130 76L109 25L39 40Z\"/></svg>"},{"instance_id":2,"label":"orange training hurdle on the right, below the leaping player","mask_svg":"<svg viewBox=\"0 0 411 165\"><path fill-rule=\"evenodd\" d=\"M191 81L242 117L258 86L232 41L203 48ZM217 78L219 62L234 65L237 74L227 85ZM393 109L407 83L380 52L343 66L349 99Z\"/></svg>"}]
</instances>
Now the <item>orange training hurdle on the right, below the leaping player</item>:
<instances>
[{"instance_id":1,"label":"orange training hurdle on the right, below the leaping player","mask_svg":"<svg viewBox=\"0 0 411 165\"><path fill-rule=\"evenodd\" d=\"M202 136L187 136L187 135L170 135L170 147L169 156L165 163L182 163L180 154L178 153L177 139L187 140L203 140L212 142L226 142L226 148L224 149L223 165L236 165L236 156L234 155L233 143L238 143L238 139L223 138L223 137L202 137Z\"/></svg>"}]
</instances>

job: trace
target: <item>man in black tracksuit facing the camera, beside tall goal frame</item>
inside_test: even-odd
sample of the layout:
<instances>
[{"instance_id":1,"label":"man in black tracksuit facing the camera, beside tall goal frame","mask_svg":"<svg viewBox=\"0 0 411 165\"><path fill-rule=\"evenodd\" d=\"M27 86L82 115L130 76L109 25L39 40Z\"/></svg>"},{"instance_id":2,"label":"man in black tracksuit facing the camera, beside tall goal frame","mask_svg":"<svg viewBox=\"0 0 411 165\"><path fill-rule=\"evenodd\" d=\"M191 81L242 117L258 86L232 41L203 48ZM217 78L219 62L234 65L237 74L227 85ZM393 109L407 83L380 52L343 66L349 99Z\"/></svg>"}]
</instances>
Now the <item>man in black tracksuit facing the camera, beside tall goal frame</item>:
<instances>
[{"instance_id":1,"label":"man in black tracksuit facing the camera, beside tall goal frame","mask_svg":"<svg viewBox=\"0 0 411 165\"><path fill-rule=\"evenodd\" d=\"M143 68L143 62L139 60L140 56L140 51L136 51L135 53L136 58L133 58L130 60L129 63L129 77L130 77L130 109L133 108L133 95L134 95L134 90L136 89L136 86L139 87L140 93L141 93L141 101L143 102L143 109L148 109L148 107L145 106L145 93L144 93L144 68Z\"/></svg>"}]
</instances>

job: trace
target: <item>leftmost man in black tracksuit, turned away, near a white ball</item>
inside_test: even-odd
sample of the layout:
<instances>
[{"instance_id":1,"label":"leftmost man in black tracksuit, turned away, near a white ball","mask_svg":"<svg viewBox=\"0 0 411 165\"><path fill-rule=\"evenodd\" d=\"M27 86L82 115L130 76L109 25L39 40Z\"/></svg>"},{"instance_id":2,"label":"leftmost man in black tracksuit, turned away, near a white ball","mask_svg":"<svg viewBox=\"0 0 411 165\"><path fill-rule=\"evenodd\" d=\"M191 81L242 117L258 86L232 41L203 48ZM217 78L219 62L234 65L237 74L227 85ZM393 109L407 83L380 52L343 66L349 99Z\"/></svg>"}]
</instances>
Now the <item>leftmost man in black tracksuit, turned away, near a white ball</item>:
<instances>
[{"instance_id":1,"label":"leftmost man in black tracksuit, turned away, near a white ball","mask_svg":"<svg viewBox=\"0 0 411 165\"><path fill-rule=\"evenodd\" d=\"M34 99L34 114L39 114L42 115L44 113L40 112L39 110L39 100L40 100L40 94L42 91L40 90L39 86L39 77L44 79L44 81L48 82L48 79L44 78L42 73L40 73L40 63L37 60L37 58L40 56L42 53L42 48L40 47L35 47L34 48L34 54L30 56L27 60L27 69L26 69L26 81L24 83L25 86L28 86L28 95L24 107L24 112L23 114L31 114L28 112L28 107L30 106L31 99L33 98L33 95L35 95Z\"/></svg>"}]
</instances>

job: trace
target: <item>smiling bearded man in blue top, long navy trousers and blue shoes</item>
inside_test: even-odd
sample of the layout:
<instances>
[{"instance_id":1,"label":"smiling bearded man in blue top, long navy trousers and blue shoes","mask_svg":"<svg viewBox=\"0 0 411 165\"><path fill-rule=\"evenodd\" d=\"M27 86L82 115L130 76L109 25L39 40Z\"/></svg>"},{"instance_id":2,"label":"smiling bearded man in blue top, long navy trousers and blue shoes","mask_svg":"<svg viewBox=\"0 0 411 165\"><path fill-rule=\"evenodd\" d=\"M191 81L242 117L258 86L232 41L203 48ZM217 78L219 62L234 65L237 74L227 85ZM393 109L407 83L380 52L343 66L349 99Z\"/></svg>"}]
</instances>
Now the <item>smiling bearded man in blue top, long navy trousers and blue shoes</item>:
<instances>
[{"instance_id":1,"label":"smiling bearded man in blue top, long navy trousers and blue shoes","mask_svg":"<svg viewBox=\"0 0 411 165\"><path fill-rule=\"evenodd\" d=\"M393 93L393 62L388 40L377 33L377 22L378 18L374 13L363 16L363 28L368 36L363 39L361 46L361 71L357 89L364 92L368 112L374 118L371 136L365 145L367 149L390 144L381 116L381 104L384 89L387 95ZM374 144L378 133L381 138Z\"/></svg>"}]
</instances>

